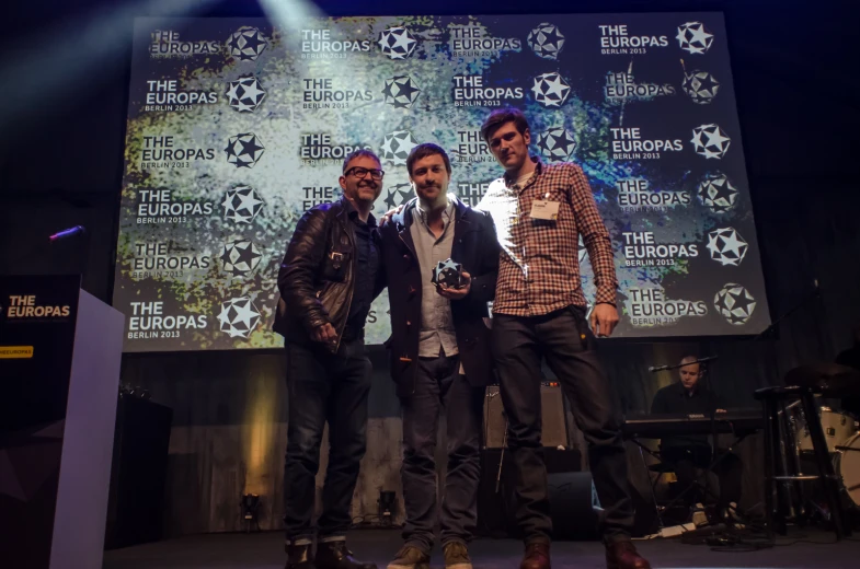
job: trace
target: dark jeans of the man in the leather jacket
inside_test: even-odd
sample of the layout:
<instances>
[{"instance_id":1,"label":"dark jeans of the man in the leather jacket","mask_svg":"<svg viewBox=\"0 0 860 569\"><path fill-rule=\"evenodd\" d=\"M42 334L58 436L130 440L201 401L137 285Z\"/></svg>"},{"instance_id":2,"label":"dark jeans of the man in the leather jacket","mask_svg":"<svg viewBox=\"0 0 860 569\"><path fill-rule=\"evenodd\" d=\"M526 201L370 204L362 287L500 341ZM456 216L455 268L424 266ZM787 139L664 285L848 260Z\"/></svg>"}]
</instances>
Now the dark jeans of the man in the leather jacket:
<instances>
[{"instance_id":1,"label":"dark jeans of the man in the leather jacket","mask_svg":"<svg viewBox=\"0 0 860 569\"><path fill-rule=\"evenodd\" d=\"M322 346L287 342L289 427L284 471L287 541L310 544L320 444L329 422L329 468L322 490L321 541L343 539L352 523L358 465L367 442L370 360L364 340L342 341L337 355Z\"/></svg>"}]
</instances>

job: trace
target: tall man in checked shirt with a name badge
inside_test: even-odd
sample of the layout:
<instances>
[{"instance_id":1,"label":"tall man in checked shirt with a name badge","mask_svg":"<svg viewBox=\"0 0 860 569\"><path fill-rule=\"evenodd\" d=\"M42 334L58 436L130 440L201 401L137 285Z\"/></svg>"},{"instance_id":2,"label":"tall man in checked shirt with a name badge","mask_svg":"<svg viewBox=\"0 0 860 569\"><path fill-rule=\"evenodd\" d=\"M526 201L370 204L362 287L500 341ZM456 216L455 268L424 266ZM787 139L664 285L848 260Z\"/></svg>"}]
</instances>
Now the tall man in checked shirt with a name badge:
<instances>
[{"instance_id":1,"label":"tall man in checked shirt with a name badge","mask_svg":"<svg viewBox=\"0 0 860 569\"><path fill-rule=\"evenodd\" d=\"M649 568L630 541L633 506L621 417L594 351L594 335L609 336L618 323L609 233L580 166L543 164L529 156L531 133L523 113L494 111L481 133L505 169L477 209L492 216L503 248L492 350L508 419L508 449L518 469L516 516L526 543L520 569L550 567L552 522L540 441L541 357L558 376L588 442L594 484L606 513L607 567ZM580 234L597 286L590 328L580 279Z\"/></svg>"}]
</instances>

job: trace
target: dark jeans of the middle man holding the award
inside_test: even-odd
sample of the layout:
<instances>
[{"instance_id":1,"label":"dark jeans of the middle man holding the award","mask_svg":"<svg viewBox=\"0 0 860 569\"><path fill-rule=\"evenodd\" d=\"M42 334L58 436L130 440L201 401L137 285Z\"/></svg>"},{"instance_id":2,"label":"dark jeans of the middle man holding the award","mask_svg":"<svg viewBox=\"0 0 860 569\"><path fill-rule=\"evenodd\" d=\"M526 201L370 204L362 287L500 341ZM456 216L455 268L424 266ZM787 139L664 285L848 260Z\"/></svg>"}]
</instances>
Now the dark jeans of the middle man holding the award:
<instances>
[{"instance_id":1,"label":"dark jeans of the middle man holding the award","mask_svg":"<svg viewBox=\"0 0 860 569\"><path fill-rule=\"evenodd\" d=\"M401 398L403 411L403 539L429 554L436 522L436 433L445 408L448 472L442 501L442 545L468 543L478 524L481 477L481 417L484 390L459 374L460 358L420 358L415 393Z\"/></svg>"}]
</instances>

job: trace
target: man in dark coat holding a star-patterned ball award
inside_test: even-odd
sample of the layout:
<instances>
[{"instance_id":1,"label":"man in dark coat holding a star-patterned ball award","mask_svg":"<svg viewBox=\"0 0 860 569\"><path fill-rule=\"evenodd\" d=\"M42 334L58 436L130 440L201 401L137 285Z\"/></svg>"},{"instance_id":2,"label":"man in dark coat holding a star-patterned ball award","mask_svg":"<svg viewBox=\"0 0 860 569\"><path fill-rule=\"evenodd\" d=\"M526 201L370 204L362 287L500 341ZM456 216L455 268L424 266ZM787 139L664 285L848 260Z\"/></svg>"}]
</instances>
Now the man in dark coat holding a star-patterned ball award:
<instances>
[{"instance_id":1,"label":"man in dark coat holding a star-patterned ball award","mask_svg":"<svg viewBox=\"0 0 860 569\"><path fill-rule=\"evenodd\" d=\"M447 416L448 468L442 504L445 567L471 569L477 525L484 387L492 382L488 302L500 246L489 214L448 195L451 165L436 144L406 160L417 195L383 223L391 307L387 347L403 414L404 545L389 569L429 567L436 525L436 432Z\"/></svg>"}]
</instances>

